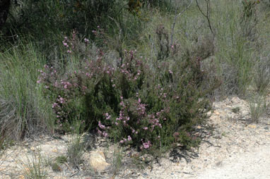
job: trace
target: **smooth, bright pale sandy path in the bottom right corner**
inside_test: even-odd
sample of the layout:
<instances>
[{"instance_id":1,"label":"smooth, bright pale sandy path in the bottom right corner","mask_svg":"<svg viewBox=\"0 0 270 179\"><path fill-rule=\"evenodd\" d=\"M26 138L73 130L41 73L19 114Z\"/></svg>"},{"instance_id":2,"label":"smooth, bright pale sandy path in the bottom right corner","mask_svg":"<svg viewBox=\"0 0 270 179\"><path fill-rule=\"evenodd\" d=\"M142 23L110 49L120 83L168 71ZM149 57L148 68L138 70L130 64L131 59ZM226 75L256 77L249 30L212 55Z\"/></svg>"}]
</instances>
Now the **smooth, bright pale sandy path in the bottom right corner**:
<instances>
[{"instance_id":1,"label":"smooth, bright pale sandy path in the bottom right corner","mask_svg":"<svg viewBox=\"0 0 270 179\"><path fill-rule=\"evenodd\" d=\"M270 178L270 144L225 159L221 166L209 168L198 179L268 179Z\"/></svg>"}]
</instances>

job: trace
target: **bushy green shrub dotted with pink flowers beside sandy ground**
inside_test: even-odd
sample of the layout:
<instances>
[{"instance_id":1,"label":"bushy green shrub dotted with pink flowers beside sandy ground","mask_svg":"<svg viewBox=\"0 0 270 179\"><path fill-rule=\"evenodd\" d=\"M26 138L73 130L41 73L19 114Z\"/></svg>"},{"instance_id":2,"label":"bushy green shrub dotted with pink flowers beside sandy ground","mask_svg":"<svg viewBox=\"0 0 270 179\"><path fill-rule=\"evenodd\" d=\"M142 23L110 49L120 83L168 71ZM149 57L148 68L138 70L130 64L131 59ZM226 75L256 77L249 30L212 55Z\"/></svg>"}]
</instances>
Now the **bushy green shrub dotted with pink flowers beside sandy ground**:
<instances>
[{"instance_id":1,"label":"bushy green shrub dotted with pink flowers beside sandy ground","mask_svg":"<svg viewBox=\"0 0 270 179\"><path fill-rule=\"evenodd\" d=\"M64 46L68 42L64 39ZM197 141L192 127L210 109L199 60L184 56L149 68L136 51L124 50L124 58L112 66L102 49L96 53L72 73L59 75L49 66L40 70L37 82L52 100L59 128L79 118L86 128L92 125L98 134L139 150Z\"/></svg>"}]
</instances>

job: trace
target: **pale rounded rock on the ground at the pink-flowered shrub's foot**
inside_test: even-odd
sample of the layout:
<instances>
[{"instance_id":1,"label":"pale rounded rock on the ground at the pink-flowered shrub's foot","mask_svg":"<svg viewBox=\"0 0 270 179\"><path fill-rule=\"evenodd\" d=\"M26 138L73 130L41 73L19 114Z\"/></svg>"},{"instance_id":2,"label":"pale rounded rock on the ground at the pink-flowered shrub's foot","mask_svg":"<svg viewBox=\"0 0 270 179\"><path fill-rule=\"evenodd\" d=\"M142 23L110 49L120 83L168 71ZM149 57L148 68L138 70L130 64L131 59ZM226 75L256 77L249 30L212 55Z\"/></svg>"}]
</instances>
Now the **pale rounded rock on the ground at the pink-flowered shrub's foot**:
<instances>
[{"instance_id":1,"label":"pale rounded rock on the ground at the pink-flowered shrub's foot","mask_svg":"<svg viewBox=\"0 0 270 179\"><path fill-rule=\"evenodd\" d=\"M110 163L106 162L105 154L103 152L93 151L90 152L90 166L94 169L94 171L98 171L99 173L105 171Z\"/></svg>"}]
</instances>

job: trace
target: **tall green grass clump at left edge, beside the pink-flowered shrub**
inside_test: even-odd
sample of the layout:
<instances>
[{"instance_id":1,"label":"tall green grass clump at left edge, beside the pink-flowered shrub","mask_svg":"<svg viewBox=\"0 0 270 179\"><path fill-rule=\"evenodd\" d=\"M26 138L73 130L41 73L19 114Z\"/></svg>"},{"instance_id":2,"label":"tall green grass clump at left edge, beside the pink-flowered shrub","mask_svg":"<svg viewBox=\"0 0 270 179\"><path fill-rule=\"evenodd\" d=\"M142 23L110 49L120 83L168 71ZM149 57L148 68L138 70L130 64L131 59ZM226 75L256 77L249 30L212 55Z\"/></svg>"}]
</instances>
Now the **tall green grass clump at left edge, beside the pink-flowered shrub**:
<instances>
[{"instance_id":1,"label":"tall green grass clump at left edge, beside the pink-flowered shrub","mask_svg":"<svg viewBox=\"0 0 270 179\"><path fill-rule=\"evenodd\" d=\"M0 134L12 140L45 132L53 123L42 88L35 82L44 59L33 44L21 43L0 54Z\"/></svg>"}]
</instances>

